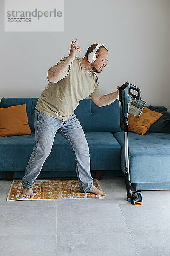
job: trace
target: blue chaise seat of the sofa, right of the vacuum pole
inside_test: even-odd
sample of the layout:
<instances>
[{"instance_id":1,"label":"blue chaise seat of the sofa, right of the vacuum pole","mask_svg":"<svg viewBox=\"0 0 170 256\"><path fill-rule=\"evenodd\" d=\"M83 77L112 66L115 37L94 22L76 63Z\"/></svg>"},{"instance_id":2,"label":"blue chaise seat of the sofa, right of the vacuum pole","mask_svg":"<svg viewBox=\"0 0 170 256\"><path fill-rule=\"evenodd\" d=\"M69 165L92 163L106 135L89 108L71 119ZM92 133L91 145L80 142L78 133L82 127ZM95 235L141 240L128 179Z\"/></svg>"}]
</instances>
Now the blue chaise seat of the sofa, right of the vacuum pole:
<instances>
[{"instance_id":1,"label":"blue chaise seat of the sofa, right of the vacuum pole","mask_svg":"<svg viewBox=\"0 0 170 256\"><path fill-rule=\"evenodd\" d=\"M124 131L113 133L122 146L121 169L125 173ZM131 183L170 182L170 134L128 132Z\"/></svg>"}]
</instances>

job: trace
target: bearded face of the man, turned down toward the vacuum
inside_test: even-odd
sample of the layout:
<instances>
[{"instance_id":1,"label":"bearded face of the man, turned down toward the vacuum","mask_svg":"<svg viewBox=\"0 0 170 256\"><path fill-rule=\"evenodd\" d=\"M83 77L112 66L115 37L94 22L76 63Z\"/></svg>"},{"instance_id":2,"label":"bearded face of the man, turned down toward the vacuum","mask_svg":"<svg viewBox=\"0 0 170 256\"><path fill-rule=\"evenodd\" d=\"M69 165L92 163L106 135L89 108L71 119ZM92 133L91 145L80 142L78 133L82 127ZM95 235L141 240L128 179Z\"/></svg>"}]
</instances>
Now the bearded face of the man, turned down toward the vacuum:
<instances>
[{"instance_id":1,"label":"bearded face of the man, turned down toward the vacuum","mask_svg":"<svg viewBox=\"0 0 170 256\"><path fill-rule=\"evenodd\" d=\"M96 61L94 61L91 64L91 69L94 72L100 73L102 72L103 67L107 65L109 55L106 49L102 49L100 52L100 55L96 58Z\"/></svg>"}]
</instances>

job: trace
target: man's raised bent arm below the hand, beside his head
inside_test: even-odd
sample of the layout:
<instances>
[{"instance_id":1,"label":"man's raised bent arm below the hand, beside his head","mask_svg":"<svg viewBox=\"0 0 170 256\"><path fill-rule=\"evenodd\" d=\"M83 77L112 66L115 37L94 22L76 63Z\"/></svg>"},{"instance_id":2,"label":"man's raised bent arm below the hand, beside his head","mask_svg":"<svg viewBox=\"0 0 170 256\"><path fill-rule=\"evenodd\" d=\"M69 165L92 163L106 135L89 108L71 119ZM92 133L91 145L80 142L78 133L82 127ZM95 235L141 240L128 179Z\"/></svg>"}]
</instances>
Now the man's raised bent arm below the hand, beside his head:
<instances>
[{"instance_id":1,"label":"man's raised bent arm below the hand, beside his head","mask_svg":"<svg viewBox=\"0 0 170 256\"><path fill-rule=\"evenodd\" d=\"M48 70L48 81L51 83L57 83L59 80L64 78L65 71L68 69L68 66L71 64L72 58L69 56L62 61L61 63L51 67Z\"/></svg>"}]
</instances>

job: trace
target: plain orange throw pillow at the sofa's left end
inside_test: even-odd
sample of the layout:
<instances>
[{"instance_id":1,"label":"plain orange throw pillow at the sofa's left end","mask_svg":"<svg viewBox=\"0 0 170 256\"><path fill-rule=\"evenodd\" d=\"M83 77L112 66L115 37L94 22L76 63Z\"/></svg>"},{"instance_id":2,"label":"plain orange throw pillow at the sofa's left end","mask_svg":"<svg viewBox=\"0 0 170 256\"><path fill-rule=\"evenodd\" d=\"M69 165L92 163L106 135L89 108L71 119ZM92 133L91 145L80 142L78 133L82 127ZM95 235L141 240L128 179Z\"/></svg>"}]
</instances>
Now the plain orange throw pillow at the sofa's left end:
<instances>
[{"instance_id":1,"label":"plain orange throw pillow at the sofa's left end","mask_svg":"<svg viewBox=\"0 0 170 256\"><path fill-rule=\"evenodd\" d=\"M30 134L32 135L28 125L26 103L0 108L0 137Z\"/></svg>"}]
</instances>

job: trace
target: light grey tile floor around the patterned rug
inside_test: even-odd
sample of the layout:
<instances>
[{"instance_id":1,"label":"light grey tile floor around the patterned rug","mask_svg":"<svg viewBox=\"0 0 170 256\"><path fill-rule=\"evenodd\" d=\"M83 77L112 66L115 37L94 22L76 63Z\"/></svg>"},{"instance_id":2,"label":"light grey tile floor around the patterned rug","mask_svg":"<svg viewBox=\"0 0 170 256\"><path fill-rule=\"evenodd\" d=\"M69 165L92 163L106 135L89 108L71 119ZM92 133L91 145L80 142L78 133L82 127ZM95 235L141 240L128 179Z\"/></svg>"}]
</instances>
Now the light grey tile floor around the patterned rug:
<instances>
[{"instance_id":1,"label":"light grey tile floor around the patterned rug","mask_svg":"<svg viewBox=\"0 0 170 256\"><path fill-rule=\"evenodd\" d=\"M170 256L170 190L141 191L138 206L124 177L99 183L102 199L6 201L0 180L0 256Z\"/></svg>"}]
</instances>

